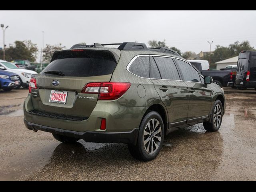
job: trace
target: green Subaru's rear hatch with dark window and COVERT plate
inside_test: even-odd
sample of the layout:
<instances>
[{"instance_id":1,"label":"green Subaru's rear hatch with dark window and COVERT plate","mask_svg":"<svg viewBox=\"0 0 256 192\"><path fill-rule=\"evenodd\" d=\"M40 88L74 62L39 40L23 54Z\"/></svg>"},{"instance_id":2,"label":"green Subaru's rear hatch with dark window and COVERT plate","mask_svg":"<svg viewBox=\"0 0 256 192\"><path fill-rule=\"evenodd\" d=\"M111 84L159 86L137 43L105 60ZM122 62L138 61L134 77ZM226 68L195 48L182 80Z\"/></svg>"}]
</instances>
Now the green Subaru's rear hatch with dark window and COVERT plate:
<instances>
[{"instance_id":1,"label":"green Subaru's rear hatch with dark window and COVERT plate","mask_svg":"<svg viewBox=\"0 0 256 192\"><path fill-rule=\"evenodd\" d=\"M89 117L98 94L81 92L90 82L111 80L117 65L114 54L109 50L88 49L55 52L51 63L36 77L37 89L31 92L34 109Z\"/></svg>"}]
</instances>

